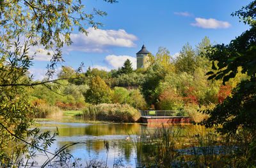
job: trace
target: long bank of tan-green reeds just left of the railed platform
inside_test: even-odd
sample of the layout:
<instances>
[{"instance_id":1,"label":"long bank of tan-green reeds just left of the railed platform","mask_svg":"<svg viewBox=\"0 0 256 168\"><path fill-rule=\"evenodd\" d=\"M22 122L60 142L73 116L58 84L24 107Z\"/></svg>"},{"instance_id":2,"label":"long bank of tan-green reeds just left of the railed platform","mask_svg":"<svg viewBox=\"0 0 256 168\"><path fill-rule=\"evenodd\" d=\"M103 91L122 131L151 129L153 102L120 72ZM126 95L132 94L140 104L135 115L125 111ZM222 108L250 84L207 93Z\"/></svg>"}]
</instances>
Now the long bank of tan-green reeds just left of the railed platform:
<instances>
[{"instance_id":1,"label":"long bank of tan-green reeds just left of the railed platform","mask_svg":"<svg viewBox=\"0 0 256 168\"><path fill-rule=\"evenodd\" d=\"M140 112L127 104L108 104L89 105L83 109L84 119L102 121L124 121L134 122L140 118Z\"/></svg>"}]
</instances>

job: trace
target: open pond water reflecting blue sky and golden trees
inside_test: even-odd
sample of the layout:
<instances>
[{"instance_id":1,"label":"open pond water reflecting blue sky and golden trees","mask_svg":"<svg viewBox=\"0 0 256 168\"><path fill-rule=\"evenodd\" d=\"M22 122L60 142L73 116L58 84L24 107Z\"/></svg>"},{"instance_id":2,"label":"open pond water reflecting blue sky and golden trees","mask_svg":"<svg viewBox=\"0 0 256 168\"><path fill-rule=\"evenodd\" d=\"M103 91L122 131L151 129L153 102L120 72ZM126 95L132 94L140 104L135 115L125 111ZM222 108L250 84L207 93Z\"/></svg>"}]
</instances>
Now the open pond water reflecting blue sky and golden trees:
<instances>
[{"instance_id":1,"label":"open pond water reflecting blue sky and golden trees","mask_svg":"<svg viewBox=\"0 0 256 168\"><path fill-rule=\"evenodd\" d=\"M143 132L154 132L159 125L146 125L140 123L86 123L81 119L40 119L36 126L42 131L58 132L56 142L50 151L54 151L70 142L83 142L68 148L70 153L81 158L81 164L86 165L90 160L107 162L108 167L114 164L124 167L136 167L138 162L134 141L136 136ZM175 126L179 128L179 126ZM104 146L104 141L109 142L109 150ZM40 155L36 158L38 165L47 158Z\"/></svg>"}]
</instances>

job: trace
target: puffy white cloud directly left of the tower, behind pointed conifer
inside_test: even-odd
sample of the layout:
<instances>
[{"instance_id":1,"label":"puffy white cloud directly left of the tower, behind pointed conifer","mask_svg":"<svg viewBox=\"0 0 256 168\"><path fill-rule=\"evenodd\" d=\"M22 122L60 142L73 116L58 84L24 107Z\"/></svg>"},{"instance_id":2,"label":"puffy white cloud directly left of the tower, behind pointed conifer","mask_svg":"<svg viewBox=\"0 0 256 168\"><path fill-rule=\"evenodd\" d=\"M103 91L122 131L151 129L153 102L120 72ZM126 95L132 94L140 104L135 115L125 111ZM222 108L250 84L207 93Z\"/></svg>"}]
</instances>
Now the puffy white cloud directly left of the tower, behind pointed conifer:
<instances>
[{"instance_id":1,"label":"puffy white cloud directly left of the tower, behind pointed conifer","mask_svg":"<svg viewBox=\"0 0 256 168\"><path fill-rule=\"evenodd\" d=\"M136 69L136 61L137 61L136 57L109 55L109 56L106 56L104 60L106 61L106 63L108 63L108 65L111 65L114 68L119 68L124 65L124 62L127 59L130 59L132 63L132 68Z\"/></svg>"}]
</instances>

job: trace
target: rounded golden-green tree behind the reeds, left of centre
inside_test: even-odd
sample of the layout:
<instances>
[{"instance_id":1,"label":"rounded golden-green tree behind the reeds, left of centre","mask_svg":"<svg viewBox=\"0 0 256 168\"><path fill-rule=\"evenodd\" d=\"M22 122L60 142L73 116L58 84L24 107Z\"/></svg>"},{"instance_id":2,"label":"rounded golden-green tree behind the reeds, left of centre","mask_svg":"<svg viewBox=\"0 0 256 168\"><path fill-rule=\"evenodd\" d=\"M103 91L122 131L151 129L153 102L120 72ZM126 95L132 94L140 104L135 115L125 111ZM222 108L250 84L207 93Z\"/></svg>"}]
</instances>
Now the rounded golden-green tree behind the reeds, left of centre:
<instances>
[{"instance_id":1,"label":"rounded golden-green tree behind the reeds, left of centre","mask_svg":"<svg viewBox=\"0 0 256 168\"><path fill-rule=\"evenodd\" d=\"M99 76L93 77L89 84L89 89L84 93L86 102L92 104L110 103L111 89Z\"/></svg>"}]
</instances>

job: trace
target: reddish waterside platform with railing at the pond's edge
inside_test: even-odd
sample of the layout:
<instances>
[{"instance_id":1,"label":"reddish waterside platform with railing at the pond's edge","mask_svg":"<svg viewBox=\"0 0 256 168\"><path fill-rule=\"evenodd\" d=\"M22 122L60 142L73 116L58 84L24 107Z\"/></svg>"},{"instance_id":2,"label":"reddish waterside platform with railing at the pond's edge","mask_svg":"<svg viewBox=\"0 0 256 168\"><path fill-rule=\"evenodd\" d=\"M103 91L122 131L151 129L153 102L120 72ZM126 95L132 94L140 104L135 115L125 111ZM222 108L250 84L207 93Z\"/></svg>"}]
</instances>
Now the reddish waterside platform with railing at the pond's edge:
<instances>
[{"instance_id":1,"label":"reddish waterside platform with railing at the pond's edge","mask_svg":"<svg viewBox=\"0 0 256 168\"><path fill-rule=\"evenodd\" d=\"M142 123L190 123L184 111L140 111Z\"/></svg>"}]
</instances>

